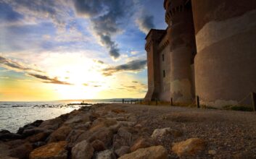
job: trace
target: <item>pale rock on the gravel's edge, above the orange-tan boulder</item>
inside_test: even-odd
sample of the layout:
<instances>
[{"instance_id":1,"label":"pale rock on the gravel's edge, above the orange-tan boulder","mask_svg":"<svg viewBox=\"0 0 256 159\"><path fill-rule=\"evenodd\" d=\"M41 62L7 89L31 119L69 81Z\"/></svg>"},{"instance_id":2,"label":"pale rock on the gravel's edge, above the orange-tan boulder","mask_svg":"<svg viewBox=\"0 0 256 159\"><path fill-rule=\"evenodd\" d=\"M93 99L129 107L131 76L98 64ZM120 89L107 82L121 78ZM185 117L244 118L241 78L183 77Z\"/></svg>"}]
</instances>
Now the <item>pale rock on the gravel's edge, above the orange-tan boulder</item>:
<instances>
[{"instance_id":1,"label":"pale rock on the gravel's edge, above the orange-tan boulder","mask_svg":"<svg viewBox=\"0 0 256 159\"><path fill-rule=\"evenodd\" d=\"M168 128L163 129L154 129L154 132L152 133L151 137L152 139L162 139L166 135L173 135L173 137L181 137L182 133L178 130Z\"/></svg>"}]
</instances>

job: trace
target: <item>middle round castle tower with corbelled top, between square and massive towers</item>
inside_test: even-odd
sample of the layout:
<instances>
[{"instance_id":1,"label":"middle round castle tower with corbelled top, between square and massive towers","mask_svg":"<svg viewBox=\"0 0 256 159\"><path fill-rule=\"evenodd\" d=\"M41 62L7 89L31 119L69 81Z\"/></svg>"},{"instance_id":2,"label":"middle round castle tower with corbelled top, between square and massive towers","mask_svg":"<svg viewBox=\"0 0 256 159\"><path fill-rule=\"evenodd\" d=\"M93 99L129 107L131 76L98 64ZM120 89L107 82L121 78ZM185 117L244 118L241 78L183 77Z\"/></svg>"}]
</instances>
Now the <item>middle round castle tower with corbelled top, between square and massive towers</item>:
<instances>
[{"instance_id":1,"label":"middle round castle tower with corbelled top, between square and massive towers","mask_svg":"<svg viewBox=\"0 0 256 159\"><path fill-rule=\"evenodd\" d=\"M177 103L194 100L194 23L189 0L165 0L170 42L170 97Z\"/></svg>"}]
</instances>

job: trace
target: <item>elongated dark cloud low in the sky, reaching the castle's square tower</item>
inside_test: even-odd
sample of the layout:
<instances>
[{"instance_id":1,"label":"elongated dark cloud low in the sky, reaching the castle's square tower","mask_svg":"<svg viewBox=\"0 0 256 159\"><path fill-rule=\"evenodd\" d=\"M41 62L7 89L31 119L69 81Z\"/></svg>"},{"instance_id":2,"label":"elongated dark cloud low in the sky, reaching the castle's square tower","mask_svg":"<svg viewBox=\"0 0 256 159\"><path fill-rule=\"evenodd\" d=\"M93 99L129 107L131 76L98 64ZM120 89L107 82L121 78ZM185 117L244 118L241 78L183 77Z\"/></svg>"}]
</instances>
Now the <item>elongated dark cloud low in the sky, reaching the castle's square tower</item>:
<instances>
[{"instance_id":1,"label":"elongated dark cloud low in the sky, reaching the castle's square tower","mask_svg":"<svg viewBox=\"0 0 256 159\"><path fill-rule=\"evenodd\" d=\"M133 60L127 64L121 64L118 66L111 66L107 69L103 69L104 76L111 76L117 72L139 72L146 66L146 60Z\"/></svg>"}]
</instances>

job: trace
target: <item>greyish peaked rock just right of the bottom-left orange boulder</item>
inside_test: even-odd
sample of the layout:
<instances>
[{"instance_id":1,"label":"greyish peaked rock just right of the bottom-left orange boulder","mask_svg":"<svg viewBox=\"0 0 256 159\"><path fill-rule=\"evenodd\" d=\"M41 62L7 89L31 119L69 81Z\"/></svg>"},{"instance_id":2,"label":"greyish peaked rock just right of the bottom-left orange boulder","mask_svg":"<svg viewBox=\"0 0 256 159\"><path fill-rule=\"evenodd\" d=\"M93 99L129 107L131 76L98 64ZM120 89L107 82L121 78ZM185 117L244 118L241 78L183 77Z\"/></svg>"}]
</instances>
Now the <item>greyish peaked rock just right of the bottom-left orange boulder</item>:
<instances>
[{"instance_id":1,"label":"greyish peaked rock just right of the bottom-left orange boulder","mask_svg":"<svg viewBox=\"0 0 256 159\"><path fill-rule=\"evenodd\" d=\"M72 148L72 159L91 159L94 155L94 148L83 140Z\"/></svg>"}]
</instances>

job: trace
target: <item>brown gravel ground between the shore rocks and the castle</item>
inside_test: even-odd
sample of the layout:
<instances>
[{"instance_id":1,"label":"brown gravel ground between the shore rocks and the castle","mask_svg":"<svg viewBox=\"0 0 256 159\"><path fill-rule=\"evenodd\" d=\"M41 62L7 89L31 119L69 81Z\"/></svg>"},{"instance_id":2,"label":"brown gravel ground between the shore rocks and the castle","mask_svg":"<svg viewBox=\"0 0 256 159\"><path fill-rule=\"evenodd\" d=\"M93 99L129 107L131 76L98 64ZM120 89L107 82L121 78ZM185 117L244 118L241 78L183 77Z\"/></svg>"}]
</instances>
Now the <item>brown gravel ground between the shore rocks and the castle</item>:
<instances>
[{"instance_id":1,"label":"brown gravel ground between the shore rocks and the castle","mask_svg":"<svg viewBox=\"0 0 256 159\"><path fill-rule=\"evenodd\" d=\"M207 147L191 158L256 158L255 112L135 104L108 104L100 108L125 110L136 118L137 124L146 127L149 135L154 129L165 127L181 131L181 137L165 137L159 141L168 150L170 158L178 158L171 151L173 142L192 137L204 139ZM215 150L216 154L210 155L209 150Z\"/></svg>"}]
</instances>

